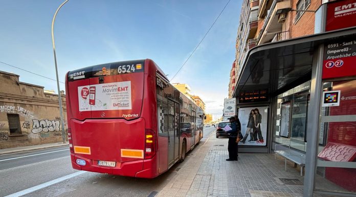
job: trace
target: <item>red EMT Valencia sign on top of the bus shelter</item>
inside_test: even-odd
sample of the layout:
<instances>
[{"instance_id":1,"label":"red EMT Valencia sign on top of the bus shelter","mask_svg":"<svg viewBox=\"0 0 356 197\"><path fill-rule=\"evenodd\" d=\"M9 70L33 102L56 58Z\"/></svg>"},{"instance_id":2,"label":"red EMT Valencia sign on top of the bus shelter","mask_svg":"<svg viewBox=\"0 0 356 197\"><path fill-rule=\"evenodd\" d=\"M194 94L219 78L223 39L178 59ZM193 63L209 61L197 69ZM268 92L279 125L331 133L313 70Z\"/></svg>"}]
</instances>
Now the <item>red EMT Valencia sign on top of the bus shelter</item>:
<instances>
[{"instance_id":1,"label":"red EMT Valencia sign on top of the bus shelter","mask_svg":"<svg viewBox=\"0 0 356 197\"><path fill-rule=\"evenodd\" d=\"M356 26L356 0L342 0L327 4L325 31Z\"/></svg>"}]
</instances>

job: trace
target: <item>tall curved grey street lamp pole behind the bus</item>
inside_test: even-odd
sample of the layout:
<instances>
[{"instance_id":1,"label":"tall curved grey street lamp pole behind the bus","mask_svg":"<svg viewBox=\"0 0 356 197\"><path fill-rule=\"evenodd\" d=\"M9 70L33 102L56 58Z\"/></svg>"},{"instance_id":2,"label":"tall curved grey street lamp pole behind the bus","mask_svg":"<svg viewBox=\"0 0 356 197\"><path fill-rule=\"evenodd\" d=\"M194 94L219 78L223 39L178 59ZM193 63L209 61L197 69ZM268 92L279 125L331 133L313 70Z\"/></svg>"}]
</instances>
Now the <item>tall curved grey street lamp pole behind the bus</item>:
<instances>
[{"instance_id":1,"label":"tall curved grey street lamp pole behind the bus","mask_svg":"<svg viewBox=\"0 0 356 197\"><path fill-rule=\"evenodd\" d=\"M60 95L60 89L59 89L59 80L58 80L58 69L57 69L57 57L56 57L56 48L54 45L54 33L53 33L53 27L54 27L54 20L56 19L57 13L59 9L67 3L69 0L65 0L56 10L56 13L54 13L53 20L52 20L52 45L53 45L53 55L54 55L54 64L56 67L56 78L57 78L57 89L58 89L58 101L59 101L59 113L60 113L60 121L62 124L62 139L63 139L63 144L65 143L65 133L64 133L64 117L63 117L63 107L62 107L62 97Z\"/></svg>"}]
</instances>

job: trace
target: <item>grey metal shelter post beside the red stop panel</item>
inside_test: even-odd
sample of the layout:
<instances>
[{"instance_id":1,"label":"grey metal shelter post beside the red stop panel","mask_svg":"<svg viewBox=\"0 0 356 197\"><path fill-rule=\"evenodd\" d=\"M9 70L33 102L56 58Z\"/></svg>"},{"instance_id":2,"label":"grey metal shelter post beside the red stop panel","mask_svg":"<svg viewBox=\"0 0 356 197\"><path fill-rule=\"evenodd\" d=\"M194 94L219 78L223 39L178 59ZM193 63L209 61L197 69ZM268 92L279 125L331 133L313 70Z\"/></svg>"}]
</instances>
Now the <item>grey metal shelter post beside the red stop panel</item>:
<instances>
[{"instance_id":1,"label":"grey metal shelter post beside the red stop panel","mask_svg":"<svg viewBox=\"0 0 356 197\"><path fill-rule=\"evenodd\" d=\"M319 116L320 100L322 91L322 68L323 68L324 46L321 44L313 54L313 65L311 68L310 101L308 107L308 119L306 128L306 155L305 155L305 177L303 196L313 196L314 180L316 173L318 138L319 138Z\"/></svg>"}]
</instances>

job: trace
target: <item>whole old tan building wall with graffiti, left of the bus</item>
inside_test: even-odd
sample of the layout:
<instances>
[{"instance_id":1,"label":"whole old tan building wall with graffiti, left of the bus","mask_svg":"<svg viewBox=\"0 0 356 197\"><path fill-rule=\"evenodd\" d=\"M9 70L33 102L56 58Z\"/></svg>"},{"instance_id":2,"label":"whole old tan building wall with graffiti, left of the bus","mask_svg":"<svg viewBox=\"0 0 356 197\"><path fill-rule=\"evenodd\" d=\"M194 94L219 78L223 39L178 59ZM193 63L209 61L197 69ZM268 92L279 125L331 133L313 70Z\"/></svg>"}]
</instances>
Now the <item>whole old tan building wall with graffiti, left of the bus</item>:
<instances>
[{"instance_id":1,"label":"whole old tan building wall with graffiti, left of the bus","mask_svg":"<svg viewBox=\"0 0 356 197\"><path fill-rule=\"evenodd\" d=\"M0 149L62 141L58 96L0 71ZM65 95L62 96L66 130ZM7 114L18 114L20 132L11 134Z\"/></svg>"}]
</instances>

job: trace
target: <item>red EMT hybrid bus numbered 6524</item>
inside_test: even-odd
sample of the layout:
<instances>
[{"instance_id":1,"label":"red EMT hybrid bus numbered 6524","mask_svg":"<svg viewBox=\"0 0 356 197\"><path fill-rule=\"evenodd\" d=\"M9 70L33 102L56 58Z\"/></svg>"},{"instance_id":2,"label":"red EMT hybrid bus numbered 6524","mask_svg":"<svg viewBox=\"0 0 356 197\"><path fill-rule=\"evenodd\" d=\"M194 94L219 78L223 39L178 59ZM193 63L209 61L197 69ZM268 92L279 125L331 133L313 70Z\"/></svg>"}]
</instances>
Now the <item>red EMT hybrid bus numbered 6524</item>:
<instances>
[{"instance_id":1,"label":"red EMT hybrid bus numbered 6524","mask_svg":"<svg viewBox=\"0 0 356 197\"><path fill-rule=\"evenodd\" d=\"M203 137L203 110L150 59L68 72L65 90L74 169L154 178Z\"/></svg>"}]
</instances>

